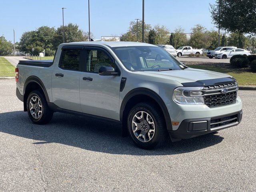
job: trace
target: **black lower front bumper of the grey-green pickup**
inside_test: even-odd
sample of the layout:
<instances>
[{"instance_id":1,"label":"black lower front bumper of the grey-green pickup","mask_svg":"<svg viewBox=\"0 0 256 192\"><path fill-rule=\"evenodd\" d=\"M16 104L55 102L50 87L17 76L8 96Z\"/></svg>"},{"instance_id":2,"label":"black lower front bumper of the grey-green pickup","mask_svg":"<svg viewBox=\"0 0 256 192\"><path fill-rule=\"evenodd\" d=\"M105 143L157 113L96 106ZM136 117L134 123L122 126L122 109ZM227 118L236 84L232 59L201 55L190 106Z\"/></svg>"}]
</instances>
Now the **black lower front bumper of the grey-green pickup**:
<instances>
[{"instance_id":1,"label":"black lower front bumper of the grey-green pickup","mask_svg":"<svg viewBox=\"0 0 256 192\"><path fill-rule=\"evenodd\" d=\"M177 130L168 130L168 132L173 141L193 138L238 125L242 120L242 113L240 110L209 118L185 119Z\"/></svg>"}]
</instances>

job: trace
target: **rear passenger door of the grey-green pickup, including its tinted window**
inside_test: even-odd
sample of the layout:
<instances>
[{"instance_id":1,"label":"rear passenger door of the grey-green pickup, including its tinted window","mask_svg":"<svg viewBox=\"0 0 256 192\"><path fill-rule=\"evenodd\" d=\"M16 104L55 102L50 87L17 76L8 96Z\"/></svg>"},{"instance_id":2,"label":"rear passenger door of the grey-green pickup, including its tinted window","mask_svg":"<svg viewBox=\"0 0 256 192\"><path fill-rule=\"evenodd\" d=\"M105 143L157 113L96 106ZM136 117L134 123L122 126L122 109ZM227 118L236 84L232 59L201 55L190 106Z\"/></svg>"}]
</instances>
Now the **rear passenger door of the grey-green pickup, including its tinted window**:
<instances>
[{"instance_id":1,"label":"rear passenger door of the grey-green pickup, including its tinted window","mask_svg":"<svg viewBox=\"0 0 256 192\"><path fill-rule=\"evenodd\" d=\"M62 47L59 63L52 71L52 98L58 107L82 112L79 76L84 62L83 46Z\"/></svg>"}]
</instances>

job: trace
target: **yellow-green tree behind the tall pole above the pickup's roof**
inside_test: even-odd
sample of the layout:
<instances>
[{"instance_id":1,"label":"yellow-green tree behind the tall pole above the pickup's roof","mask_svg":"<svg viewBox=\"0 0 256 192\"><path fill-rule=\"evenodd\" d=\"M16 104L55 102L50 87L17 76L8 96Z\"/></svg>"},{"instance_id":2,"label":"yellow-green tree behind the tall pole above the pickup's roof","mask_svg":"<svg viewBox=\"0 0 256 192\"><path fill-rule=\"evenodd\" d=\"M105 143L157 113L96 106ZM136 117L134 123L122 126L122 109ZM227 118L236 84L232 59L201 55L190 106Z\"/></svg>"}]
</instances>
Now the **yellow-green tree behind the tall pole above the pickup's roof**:
<instances>
[{"instance_id":1,"label":"yellow-green tree behind the tall pole above the pickup's roof","mask_svg":"<svg viewBox=\"0 0 256 192\"><path fill-rule=\"evenodd\" d=\"M148 33L151 25L144 23L145 42L148 42ZM137 22L131 21L126 33L121 34L120 41L137 41ZM138 41L142 42L142 21L138 21Z\"/></svg>"}]
</instances>

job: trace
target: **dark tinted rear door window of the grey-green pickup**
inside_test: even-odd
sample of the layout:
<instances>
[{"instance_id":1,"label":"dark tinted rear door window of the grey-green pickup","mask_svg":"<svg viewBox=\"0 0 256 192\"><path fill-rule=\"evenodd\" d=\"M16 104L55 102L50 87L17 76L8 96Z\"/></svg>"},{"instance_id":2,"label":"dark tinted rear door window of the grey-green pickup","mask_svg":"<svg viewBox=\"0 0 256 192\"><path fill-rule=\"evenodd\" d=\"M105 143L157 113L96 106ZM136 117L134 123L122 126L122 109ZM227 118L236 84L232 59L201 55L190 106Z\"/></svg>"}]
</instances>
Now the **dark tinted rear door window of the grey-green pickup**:
<instances>
[{"instance_id":1,"label":"dark tinted rear door window of the grey-green pickup","mask_svg":"<svg viewBox=\"0 0 256 192\"><path fill-rule=\"evenodd\" d=\"M80 55L82 50L64 49L60 60L60 68L66 70L80 70Z\"/></svg>"}]
</instances>

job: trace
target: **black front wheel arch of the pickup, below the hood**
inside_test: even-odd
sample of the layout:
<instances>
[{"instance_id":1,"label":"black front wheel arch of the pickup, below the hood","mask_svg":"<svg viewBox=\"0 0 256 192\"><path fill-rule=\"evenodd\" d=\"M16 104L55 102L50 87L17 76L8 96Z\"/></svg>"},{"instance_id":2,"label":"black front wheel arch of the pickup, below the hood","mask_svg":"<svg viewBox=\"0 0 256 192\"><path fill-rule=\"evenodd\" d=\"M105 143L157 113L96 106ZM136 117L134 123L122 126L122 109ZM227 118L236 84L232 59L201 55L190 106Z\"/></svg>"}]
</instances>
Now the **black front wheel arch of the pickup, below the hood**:
<instances>
[{"instance_id":1,"label":"black front wheel arch of the pickup, below the hood","mask_svg":"<svg viewBox=\"0 0 256 192\"><path fill-rule=\"evenodd\" d=\"M135 88L128 92L124 97L121 107L120 107L120 121L122 122L122 135L126 136L126 120L130 109L134 106L134 104L143 101L154 102L157 106L159 106L162 114L164 115L164 121L166 123L166 128L168 130L172 130L172 123L170 119L170 115L168 109L162 100L162 98L154 91L148 88Z\"/></svg>"}]
</instances>

